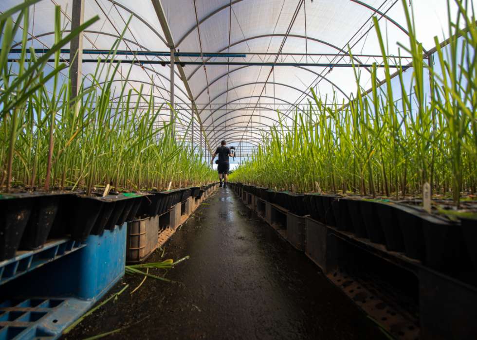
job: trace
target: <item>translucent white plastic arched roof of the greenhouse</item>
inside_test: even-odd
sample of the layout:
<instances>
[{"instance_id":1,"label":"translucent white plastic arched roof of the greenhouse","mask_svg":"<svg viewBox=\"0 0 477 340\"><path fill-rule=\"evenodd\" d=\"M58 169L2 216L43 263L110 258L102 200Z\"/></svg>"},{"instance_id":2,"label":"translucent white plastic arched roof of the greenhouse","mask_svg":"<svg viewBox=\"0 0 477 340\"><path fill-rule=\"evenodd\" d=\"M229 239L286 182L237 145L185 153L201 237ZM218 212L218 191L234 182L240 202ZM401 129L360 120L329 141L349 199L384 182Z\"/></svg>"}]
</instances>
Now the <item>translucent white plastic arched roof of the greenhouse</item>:
<instances>
[{"instance_id":1,"label":"translucent white plastic arched roof of the greenhouse","mask_svg":"<svg viewBox=\"0 0 477 340\"><path fill-rule=\"evenodd\" d=\"M19 2L2 0L0 11ZM35 48L53 44L55 5L61 6L63 26L70 28L72 2L42 0L31 9L35 21L30 20L29 32L34 36L31 43ZM447 1L410 2L417 37L426 52L434 47L434 36L440 41L448 37ZM161 12L165 22L164 19L161 22ZM456 12L453 1L451 12L451 16ZM349 65L351 58L343 55L348 54L348 46L355 64L382 62L382 58L374 56L381 51L373 16L379 19L387 39L388 55L405 56L405 51L398 50L397 42L404 46L409 42L401 0L85 0L85 20L95 15L100 20L85 32L84 49L109 50L132 15L120 50L170 52L170 45L174 45L176 52L205 54L203 58L179 56L180 61L242 63L207 64L205 68L189 64L181 67L176 63L174 96L179 118L190 121L191 100L194 100L212 149L221 139L229 143L259 143L262 131L278 124L277 109L285 117L283 123L291 124L294 108L312 100L310 88L323 97L348 101L356 91L353 69L330 69L326 65ZM245 56L207 56L210 53ZM169 60L169 57L142 56L141 59ZM402 64L408 61L403 59ZM275 62L275 67L259 65L263 62ZM284 63L294 65L280 65ZM94 63L83 64L83 74L94 72L95 67ZM121 73L125 74L130 67L123 64ZM360 68L360 71L361 86L369 88L369 69ZM384 79L382 70L379 78ZM151 79L157 105L169 102L169 65L133 65L126 86L139 89L143 85L147 93ZM121 80L122 76L118 76L118 87ZM168 121L169 112L164 111L161 120ZM199 143L199 124L195 126L194 142Z\"/></svg>"}]
</instances>

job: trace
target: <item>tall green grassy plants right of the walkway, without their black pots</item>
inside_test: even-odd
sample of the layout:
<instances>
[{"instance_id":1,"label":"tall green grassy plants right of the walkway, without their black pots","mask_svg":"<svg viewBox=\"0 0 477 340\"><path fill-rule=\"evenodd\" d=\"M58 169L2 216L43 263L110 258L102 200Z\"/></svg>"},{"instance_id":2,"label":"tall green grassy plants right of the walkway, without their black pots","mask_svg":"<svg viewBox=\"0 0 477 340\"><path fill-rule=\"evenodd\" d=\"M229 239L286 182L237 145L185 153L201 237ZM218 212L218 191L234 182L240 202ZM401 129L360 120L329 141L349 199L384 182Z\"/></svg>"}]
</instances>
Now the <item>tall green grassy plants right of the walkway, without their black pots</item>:
<instances>
[{"instance_id":1,"label":"tall green grassy plants right of the walkway, without their black pots","mask_svg":"<svg viewBox=\"0 0 477 340\"><path fill-rule=\"evenodd\" d=\"M376 64L368 94L355 70L358 87L348 105L311 89L315 103L307 111L295 112L291 128L280 124L263 133L264 143L230 180L290 191L394 199L421 196L428 182L435 198L452 198L457 206L461 199L472 199L477 190L477 29L465 2L456 2L459 13L455 22L449 19L449 44L441 48L436 37L434 62L441 75L424 62L404 4L410 49L402 49L412 55L413 68L399 70L400 86L386 90L392 86L384 58L385 89L378 87ZM404 72L412 72L409 88ZM428 73L431 102L425 101Z\"/></svg>"}]
</instances>

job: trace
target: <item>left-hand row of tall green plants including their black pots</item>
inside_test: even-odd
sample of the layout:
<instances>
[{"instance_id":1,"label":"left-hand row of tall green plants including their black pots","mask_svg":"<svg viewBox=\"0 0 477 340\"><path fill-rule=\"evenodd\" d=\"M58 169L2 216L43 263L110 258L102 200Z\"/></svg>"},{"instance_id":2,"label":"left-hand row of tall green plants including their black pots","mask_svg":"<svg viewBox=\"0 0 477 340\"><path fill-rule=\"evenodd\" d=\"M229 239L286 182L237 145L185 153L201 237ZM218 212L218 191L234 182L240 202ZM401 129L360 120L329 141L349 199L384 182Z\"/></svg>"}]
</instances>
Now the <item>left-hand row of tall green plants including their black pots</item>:
<instances>
[{"instance_id":1,"label":"left-hand row of tall green plants including their black pots","mask_svg":"<svg viewBox=\"0 0 477 340\"><path fill-rule=\"evenodd\" d=\"M37 1L0 15L0 261L18 247L41 248L47 238L85 241L137 215L163 213L215 179L172 123L158 126L162 106L152 93L126 91L131 68L124 74L120 63L99 60L72 98L60 49L98 17L64 34L56 6L55 44L37 57L27 53L27 32L20 29L20 23L28 27L29 6ZM12 57L15 43L21 53ZM118 77L123 81L115 89ZM185 125L187 135L190 124L177 114L175 124Z\"/></svg>"}]
</instances>

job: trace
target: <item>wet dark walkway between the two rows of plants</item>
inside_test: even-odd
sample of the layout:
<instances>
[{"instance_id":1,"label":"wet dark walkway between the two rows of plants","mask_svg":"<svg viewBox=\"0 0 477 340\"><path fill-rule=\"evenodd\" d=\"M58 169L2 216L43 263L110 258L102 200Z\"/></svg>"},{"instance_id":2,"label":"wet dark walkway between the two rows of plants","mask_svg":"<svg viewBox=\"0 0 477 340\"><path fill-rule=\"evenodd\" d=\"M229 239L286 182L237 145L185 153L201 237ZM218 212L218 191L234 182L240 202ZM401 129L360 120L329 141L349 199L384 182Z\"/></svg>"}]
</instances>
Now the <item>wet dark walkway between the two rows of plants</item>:
<instances>
[{"instance_id":1,"label":"wet dark walkway between the two rows of plants","mask_svg":"<svg viewBox=\"0 0 477 340\"><path fill-rule=\"evenodd\" d=\"M61 339L386 339L321 270L218 188L147 262L190 259L165 274L181 284L126 276L128 289ZM164 272L164 271L163 271ZM159 269L149 273L161 274Z\"/></svg>"}]
</instances>

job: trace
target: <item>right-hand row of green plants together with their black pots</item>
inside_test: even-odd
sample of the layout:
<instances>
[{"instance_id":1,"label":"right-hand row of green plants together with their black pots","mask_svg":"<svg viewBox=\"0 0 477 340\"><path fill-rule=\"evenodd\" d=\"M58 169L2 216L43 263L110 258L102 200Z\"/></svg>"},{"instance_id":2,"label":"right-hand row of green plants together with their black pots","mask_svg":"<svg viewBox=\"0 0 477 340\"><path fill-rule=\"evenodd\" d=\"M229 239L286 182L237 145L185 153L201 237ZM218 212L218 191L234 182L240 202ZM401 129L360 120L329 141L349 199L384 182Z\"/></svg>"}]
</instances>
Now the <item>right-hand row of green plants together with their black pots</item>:
<instances>
[{"instance_id":1,"label":"right-hand row of green plants together with their black pots","mask_svg":"<svg viewBox=\"0 0 477 340\"><path fill-rule=\"evenodd\" d=\"M358 88L347 105L332 99L330 106L311 89L315 103L295 112L291 128L264 133L230 176L233 185L477 286L477 26L466 2L456 2L449 44L435 39L441 75L424 63L403 3L410 49L402 48L413 68L399 70L398 90L391 90L386 59L386 88L378 87L376 64L368 94L355 71ZM409 88L404 71L412 72Z\"/></svg>"}]
</instances>

